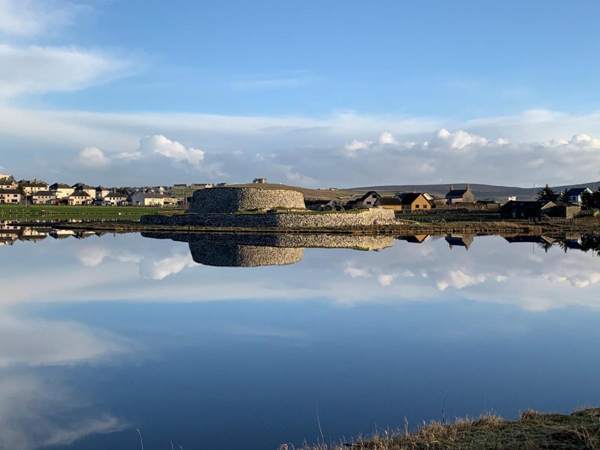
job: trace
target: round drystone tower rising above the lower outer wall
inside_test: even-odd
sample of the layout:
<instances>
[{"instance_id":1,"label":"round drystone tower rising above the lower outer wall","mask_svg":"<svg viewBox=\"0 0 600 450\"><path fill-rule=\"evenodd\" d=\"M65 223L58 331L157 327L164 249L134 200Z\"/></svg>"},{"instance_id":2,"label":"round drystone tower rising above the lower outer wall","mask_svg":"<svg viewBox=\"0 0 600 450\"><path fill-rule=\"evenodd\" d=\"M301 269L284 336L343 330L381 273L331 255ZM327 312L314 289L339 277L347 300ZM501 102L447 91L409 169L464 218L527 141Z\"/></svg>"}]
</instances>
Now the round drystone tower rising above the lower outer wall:
<instances>
[{"instance_id":1,"label":"round drystone tower rising above the lower outer wall","mask_svg":"<svg viewBox=\"0 0 600 450\"><path fill-rule=\"evenodd\" d=\"M194 192L188 212L210 214L280 207L305 209L304 196L286 189L208 188Z\"/></svg>"}]
</instances>

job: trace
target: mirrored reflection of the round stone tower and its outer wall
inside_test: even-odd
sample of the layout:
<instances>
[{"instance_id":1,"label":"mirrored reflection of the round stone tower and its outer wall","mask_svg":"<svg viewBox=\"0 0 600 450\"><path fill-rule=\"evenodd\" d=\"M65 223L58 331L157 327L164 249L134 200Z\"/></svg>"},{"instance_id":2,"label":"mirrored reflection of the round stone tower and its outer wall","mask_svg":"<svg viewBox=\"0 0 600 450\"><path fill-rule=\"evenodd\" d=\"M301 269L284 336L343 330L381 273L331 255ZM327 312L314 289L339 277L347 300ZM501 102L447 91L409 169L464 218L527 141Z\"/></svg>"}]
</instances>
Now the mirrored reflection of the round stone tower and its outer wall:
<instances>
[{"instance_id":1,"label":"mirrored reflection of the round stone tower and its outer wall","mask_svg":"<svg viewBox=\"0 0 600 450\"><path fill-rule=\"evenodd\" d=\"M144 232L142 236L188 242L199 264L236 267L293 264L302 259L306 247L377 251L394 244L392 236L362 235Z\"/></svg>"}]
</instances>

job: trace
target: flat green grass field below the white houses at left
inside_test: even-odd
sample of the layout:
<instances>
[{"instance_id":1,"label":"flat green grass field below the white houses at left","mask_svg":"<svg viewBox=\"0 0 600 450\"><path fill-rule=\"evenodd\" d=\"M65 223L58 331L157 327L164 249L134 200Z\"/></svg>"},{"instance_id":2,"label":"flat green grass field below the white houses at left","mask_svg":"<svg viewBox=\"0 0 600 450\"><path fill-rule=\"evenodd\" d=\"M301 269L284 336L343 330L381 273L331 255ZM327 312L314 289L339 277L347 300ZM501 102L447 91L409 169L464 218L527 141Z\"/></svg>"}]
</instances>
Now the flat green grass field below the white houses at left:
<instances>
[{"instance_id":1,"label":"flat green grass field below the white houses at left","mask_svg":"<svg viewBox=\"0 0 600 450\"><path fill-rule=\"evenodd\" d=\"M0 205L0 219L127 219L137 220L145 214L179 212L172 208L151 206L55 206L55 205Z\"/></svg>"}]
</instances>

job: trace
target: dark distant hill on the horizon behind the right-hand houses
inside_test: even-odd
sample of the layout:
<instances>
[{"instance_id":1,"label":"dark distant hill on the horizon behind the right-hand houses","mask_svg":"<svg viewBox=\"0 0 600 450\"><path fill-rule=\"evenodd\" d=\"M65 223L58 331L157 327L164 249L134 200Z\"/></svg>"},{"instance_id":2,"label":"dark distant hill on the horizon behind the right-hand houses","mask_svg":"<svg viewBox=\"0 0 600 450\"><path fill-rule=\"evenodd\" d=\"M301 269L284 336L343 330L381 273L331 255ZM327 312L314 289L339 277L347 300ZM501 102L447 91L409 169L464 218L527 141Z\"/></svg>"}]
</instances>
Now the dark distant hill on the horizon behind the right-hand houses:
<instances>
[{"instance_id":1,"label":"dark distant hill on the horizon behind the right-hand houses","mask_svg":"<svg viewBox=\"0 0 600 450\"><path fill-rule=\"evenodd\" d=\"M555 186L552 187L554 191L559 193L565 188L572 187L587 187L590 190L594 190L600 186L600 181L596 183L583 183L583 184L570 184L566 186ZM352 188L352 190L366 192L366 191L393 191L393 192L427 192L429 194L444 196L449 190L450 184L404 184L404 185L385 185L385 186L368 186ZM455 189L464 189L466 184L454 183ZM536 184L535 192L539 188L544 187ZM496 186L492 184L471 184L471 189L475 197L480 200L493 199L493 200L506 200L508 196L517 196L518 199L527 200L532 199L534 194L533 185L530 188L512 187L512 186Z\"/></svg>"}]
</instances>

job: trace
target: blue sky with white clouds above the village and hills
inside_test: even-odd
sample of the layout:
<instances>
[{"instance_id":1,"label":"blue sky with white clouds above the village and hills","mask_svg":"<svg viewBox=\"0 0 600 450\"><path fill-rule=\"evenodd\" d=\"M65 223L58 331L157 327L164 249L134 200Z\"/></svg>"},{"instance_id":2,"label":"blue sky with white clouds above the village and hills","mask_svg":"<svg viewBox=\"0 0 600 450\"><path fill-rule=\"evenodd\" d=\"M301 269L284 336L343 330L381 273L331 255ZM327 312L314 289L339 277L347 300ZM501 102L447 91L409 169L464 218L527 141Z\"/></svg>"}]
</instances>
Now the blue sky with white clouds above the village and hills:
<instances>
[{"instance_id":1,"label":"blue sky with white clouds above the village and hills","mask_svg":"<svg viewBox=\"0 0 600 450\"><path fill-rule=\"evenodd\" d=\"M0 0L0 173L598 181L593 1Z\"/></svg>"}]
</instances>

